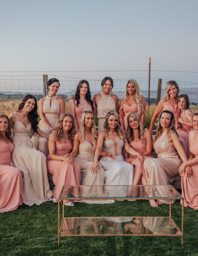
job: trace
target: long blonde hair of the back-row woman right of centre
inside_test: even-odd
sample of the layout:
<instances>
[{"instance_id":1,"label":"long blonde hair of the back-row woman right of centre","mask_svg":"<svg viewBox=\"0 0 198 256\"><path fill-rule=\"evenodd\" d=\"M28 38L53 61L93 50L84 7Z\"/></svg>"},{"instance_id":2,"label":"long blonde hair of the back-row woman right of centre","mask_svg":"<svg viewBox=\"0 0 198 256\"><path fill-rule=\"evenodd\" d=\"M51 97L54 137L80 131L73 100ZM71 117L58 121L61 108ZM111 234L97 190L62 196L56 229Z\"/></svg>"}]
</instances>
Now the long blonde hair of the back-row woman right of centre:
<instances>
[{"instance_id":1,"label":"long blonde hair of the back-row woman right of centre","mask_svg":"<svg viewBox=\"0 0 198 256\"><path fill-rule=\"evenodd\" d=\"M124 102L123 103L126 103L128 98L129 98L129 93L127 91L127 86L128 86L129 83L132 83L133 86L136 89L136 92L134 93L134 100L137 103L138 115L141 115L144 111L144 107L143 107L143 104L142 104L142 97L141 97L141 94L140 94L140 88L139 88L138 82L135 79L128 80L127 85L126 85L125 94L124 94Z\"/></svg>"}]
</instances>

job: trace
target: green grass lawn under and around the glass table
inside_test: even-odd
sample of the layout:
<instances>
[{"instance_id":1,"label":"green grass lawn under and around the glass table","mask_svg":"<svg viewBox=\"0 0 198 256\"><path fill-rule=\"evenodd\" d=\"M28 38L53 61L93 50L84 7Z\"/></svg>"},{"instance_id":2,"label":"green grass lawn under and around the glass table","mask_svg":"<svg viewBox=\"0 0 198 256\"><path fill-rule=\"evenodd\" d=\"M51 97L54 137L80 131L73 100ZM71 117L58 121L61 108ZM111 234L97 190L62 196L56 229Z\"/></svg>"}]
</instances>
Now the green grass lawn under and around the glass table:
<instances>
[{"instance_id":1,"label":"green grass lawn under and around the glass table","mask_svg":"<svg viewBox=\"0 0 198 256\"><path fill-rule=\"evenodd\" d=\"M182 206L172 205L172 217L181 229ZM75 203L65 207L68 217L169 216L169 205L148 201L113 204ZM57 203L22 205L0 214L0 255L198 255L198 211L184 210L184 246L181 237L63 237L57 246Z\"/></svg>"}]
</instances>

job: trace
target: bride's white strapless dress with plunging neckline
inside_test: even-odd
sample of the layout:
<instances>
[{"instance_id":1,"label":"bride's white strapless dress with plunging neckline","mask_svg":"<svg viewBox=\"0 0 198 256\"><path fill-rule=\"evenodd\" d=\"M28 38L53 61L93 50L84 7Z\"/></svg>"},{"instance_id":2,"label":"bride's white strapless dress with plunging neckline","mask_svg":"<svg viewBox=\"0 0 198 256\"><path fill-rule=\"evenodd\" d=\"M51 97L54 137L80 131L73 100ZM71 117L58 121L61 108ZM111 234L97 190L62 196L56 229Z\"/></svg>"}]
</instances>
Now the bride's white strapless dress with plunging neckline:
<instances>
[{"instance_id":1,"label":"bride's white strapless dress with plunging neckline","mask_svg":"<svg viewBox=\"0 0 198 256\"><path fill-rule=\"evenodd\" d=\"M99 163L105 171L105 182L104 185L132 185L133 184L133 173L134 168L131 164L124 161L122 156L122 147L124 141L118 140L117 143L117 155L115 154L114 141L104 140L102 150L105 152L112 153L116 156L113 160L108 156L103 156ZM121 192L122 190L122 192ZM108 187L108 196L116 196L126 193L128 191L125 187L119 187L118 190L115 187ZM118 196L119 197L119 196Z\"/></svg>"}]
</instances>

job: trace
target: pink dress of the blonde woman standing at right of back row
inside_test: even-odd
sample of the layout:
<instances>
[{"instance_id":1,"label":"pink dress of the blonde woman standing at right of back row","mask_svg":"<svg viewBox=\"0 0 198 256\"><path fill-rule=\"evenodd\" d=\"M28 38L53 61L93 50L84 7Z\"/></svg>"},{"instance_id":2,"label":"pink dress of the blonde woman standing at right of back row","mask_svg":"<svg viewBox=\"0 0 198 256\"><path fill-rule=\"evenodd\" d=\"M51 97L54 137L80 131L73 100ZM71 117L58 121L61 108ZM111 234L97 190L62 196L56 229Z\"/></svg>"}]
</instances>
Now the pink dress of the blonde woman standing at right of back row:
<instances>
[{"instance_id":1,"label":"pink dress of the blonde woman standing at right of back row","mask_svg":"<svg viewBox=\"0 0 198 256\"><path fill-rule=\"evenodd\" d=\"M188 155L189 155L189 134L188 134L187 131L184 131L182 129L182 126L178 122L178 118L179 118L179 115L180 115L180 109L178 108L177 104L175 104L174 107L173 107L172 104L170 104L169 101L166 101L162 111L163 110L169 110L173 113L174 119L175 119L175 128L177 130L177 133L178 133L179 137L184 139L184 141L185 141L185 145L186 145L185 152L186 152L187 157L188 157Z\"/></svg>"}]
</instances>

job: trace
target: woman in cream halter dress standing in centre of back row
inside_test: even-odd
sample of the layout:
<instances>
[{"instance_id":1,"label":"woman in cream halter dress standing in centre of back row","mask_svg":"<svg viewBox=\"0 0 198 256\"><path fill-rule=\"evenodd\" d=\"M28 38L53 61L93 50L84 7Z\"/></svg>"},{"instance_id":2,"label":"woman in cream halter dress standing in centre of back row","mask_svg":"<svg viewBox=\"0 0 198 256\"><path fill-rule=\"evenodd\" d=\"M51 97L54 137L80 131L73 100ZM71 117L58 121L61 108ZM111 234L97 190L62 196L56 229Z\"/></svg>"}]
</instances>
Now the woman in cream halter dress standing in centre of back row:
<instances>
[{"instance_id":1,"label":"woman in cream halter dress standing in centre of back row","mask_svg":"<svg viewBox=\"0 0 198 256\"><path fill-rule=\"evenodd\" d=\"M113 79L110 76L105 76L101 81L101 87L101 93L94 95L94 102L97 106L99 118L99 132L104 130L106 114L111 110L115 110L118 113L119 110L118 97L111 93Z\"/></svg>"}]
</instances>

